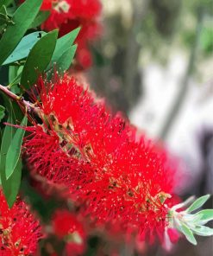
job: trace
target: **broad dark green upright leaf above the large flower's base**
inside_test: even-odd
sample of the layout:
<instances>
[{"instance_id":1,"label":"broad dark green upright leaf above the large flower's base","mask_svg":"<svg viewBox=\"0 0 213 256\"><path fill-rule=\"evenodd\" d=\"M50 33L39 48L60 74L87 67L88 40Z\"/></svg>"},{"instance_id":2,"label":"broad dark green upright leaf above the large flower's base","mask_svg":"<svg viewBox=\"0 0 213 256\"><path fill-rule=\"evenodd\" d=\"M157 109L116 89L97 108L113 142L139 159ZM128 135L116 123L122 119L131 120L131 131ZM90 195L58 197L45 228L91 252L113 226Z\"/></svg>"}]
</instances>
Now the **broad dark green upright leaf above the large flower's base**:
<instances>
[{"instance_id":1,"label":"broad dark green upright leaf above the large flower's base","mask_svg":"<svg viewBox=\"0 0 213 256\"><path fill-rule=\"evenodd\" d=\"M21 78L21 84L26 89L32 86L41 72L47 68L53 56L57 36L58 30L53 30L44 35L40 41L35 43L34 48L28 54Z\"/></svg>"}]
</instances>

